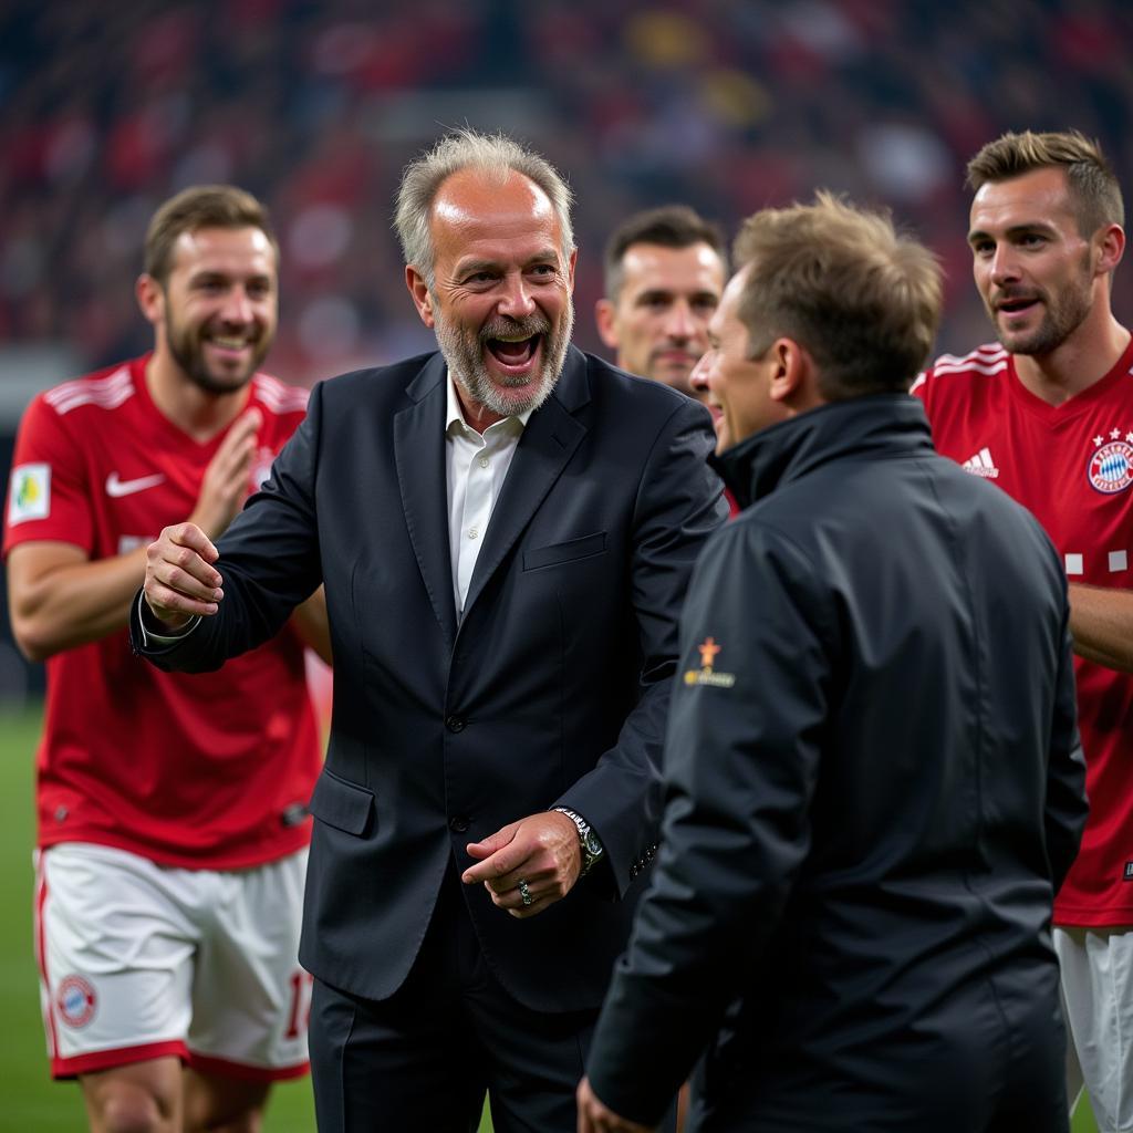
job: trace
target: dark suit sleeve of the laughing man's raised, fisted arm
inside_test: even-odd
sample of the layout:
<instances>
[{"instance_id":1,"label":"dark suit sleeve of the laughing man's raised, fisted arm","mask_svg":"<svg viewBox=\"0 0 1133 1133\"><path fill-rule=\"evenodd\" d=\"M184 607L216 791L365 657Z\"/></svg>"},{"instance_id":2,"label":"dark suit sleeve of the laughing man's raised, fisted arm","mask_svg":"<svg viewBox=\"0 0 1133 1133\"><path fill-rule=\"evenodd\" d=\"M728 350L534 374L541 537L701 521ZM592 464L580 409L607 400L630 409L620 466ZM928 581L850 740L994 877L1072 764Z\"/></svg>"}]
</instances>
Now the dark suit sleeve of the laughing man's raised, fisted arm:
<instances>
[{"instance_id":1,"label":"dark suit sleeve of the laughing man's raised, fisted arm","mask_svg":"<svg viewBox=\"0 0 1133 1133\"><path fill-rule=\"evenodd\" d=\"M218 543L215 565L224 589L219 612L176 644L147 644L135 602L130 641L136 654L164 670L220 668L274 637L314 594L322 581L314 502L322 417L322 386L316 386L271 476Z\"/></svg>"}]
</instances>

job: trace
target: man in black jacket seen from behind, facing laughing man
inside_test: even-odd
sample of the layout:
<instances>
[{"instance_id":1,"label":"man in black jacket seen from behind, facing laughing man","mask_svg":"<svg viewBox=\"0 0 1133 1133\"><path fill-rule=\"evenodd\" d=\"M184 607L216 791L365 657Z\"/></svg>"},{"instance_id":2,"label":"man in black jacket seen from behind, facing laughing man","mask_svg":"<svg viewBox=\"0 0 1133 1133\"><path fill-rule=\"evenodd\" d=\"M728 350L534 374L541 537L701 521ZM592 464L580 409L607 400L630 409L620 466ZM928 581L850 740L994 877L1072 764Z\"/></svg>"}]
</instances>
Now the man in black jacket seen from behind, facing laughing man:
<instances>
[{"instance_id":1,"label":"man in black jacket seen from behind, facing laughing man","mask_svg":"<svg viewBox=\"0 0 1133 1133\"><path fill-rule=\"evenodd\" d=\"M579 1089L638 1131L1065 1131L1054 892L1085 820L1066 585L906 397L939 272L828 196L751 218L709 393L744 506L682 615L662 851Z\"/></svg>"}]
</instances>

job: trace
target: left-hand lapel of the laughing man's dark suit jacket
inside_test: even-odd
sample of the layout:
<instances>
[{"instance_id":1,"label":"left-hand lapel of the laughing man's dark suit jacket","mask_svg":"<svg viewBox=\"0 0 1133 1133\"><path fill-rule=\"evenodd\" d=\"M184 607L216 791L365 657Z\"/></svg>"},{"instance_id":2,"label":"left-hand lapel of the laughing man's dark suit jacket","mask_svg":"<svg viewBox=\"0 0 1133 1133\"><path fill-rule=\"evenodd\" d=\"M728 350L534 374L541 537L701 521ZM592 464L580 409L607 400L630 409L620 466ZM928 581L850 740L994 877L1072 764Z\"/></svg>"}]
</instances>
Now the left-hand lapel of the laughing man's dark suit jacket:
<instances>
[{"instance_id":1,"label":"left-hand lapel of the laughing man's dark suit jacket","mask_svg":"<svg viewBox=\"0 0 1133 1133\"><path fill-rule=\"evenodd\" d=\"M444 359L431 358L407 393L414 404L393 419L398 485L421 580L450 647L457 637L449 551L449 489L444 461Z\"/></svg>"}]
</instances>

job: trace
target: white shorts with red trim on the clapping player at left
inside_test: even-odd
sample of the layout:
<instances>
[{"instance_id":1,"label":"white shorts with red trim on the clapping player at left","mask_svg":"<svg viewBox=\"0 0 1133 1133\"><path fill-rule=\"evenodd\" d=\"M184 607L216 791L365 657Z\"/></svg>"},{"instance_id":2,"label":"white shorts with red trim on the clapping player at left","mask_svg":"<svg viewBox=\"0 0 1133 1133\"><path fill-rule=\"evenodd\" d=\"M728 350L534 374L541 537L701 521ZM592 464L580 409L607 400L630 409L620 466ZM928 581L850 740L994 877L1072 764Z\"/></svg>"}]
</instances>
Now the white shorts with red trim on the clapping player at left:
<instances>
[{"instance_id":1,"label":"white shorts with red trim on the clapping player at left","mask_svg":"<svg viewBox=\"0 0 1133 1133\"><path fill-rule=\"evenodd\" d=\"M36 855L35 949L53 1077L173 1055L210 1074L306 1073L307 851L196 870L88 843Z\"/></svg>"}]
</instances>

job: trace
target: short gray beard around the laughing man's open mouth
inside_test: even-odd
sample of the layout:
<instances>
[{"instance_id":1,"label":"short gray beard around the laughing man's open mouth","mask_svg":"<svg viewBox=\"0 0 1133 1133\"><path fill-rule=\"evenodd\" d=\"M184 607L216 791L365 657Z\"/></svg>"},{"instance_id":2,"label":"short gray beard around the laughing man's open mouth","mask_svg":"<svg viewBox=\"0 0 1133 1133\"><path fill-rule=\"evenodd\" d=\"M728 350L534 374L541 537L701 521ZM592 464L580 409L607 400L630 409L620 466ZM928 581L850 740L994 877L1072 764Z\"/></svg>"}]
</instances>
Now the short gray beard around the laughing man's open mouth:
<instances>
[{"instance_id":1,"label":"short gray beard around the laughing man's open mouth","mask_svg":"<svg viewBox=\"0 0 1133 1133\"><path fill-rule=\"evenodd\" d=\"M570 346L571 332L574 329L574 305L568 300L566 309L557 332L539 315L523 320L493 320L477 332L461 331L453 326L442 314L440 304L434 297L433 322L436 344L449 372L474 401L499 417L518 417L539 408L551 397L566 360L566 348ZM505 398L500 391L487 366L484 364L485 343L503 334L542 334L544 337L543 367L526 398ZM504 385L509 384L506 380ZM516 385L522 385L523 380L517 380Z\"/></svg>"}]
</instances>

